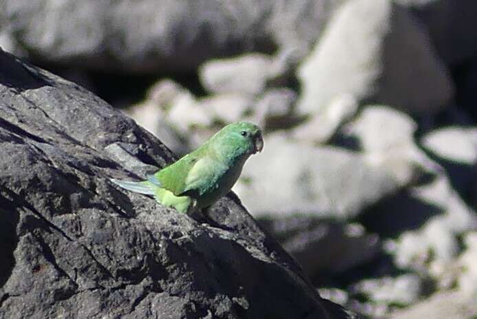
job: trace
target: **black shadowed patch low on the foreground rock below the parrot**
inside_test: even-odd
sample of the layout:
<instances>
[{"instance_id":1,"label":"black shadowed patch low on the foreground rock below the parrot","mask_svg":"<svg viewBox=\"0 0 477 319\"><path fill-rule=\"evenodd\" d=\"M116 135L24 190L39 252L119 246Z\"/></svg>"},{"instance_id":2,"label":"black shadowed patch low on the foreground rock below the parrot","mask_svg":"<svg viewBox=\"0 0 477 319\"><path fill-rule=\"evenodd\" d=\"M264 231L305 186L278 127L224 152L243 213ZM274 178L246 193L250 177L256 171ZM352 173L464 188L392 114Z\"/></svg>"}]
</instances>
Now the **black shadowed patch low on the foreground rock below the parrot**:
<instances>
[{"instance_id":1,"label":"black shadowed patch low on the foreground rock below the parrot","mask_svg":"<svg viewBox=\"0 0 477 319\"><path fill-rule=\"evenodd\" d=\"M194 251L197 247L211 247L211 251ZM193 273L208 276L209 289L202 288L205 296L211 298L220 293L231 298L230 315L234 318L320 318L324 314L323 309L312 302L315 292L310 287L308 297L297 298L307 290L306 282L290 276L293 272L286 265L273 263L258 252L258 256L251 255L235 240L202 234L194 238L193 247L187 250L198 254L189 257L188 265L193 267ZM180 256L180 260L184 260L184 256ZM198 287L192 289L201 289L200 278L193 280L193 285L196 283ZM273 306L271 300L282 307ZM216 307L217 313L220 305ZM301 313L297 309L302 309Z\"/></svg>"}]
</instances>

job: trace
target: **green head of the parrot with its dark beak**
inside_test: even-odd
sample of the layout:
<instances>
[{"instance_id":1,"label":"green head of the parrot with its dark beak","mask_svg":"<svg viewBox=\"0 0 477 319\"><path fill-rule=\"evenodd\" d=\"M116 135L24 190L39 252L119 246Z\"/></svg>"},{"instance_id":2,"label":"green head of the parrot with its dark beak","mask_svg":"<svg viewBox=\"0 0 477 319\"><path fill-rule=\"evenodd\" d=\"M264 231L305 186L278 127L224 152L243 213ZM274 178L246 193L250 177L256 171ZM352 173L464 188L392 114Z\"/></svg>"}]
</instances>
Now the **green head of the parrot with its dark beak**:
<instances>
[{"instance_id":1,"label":"green head of the parrot with its dark beak","mask_svg":"<svg viewBox=\"0 0 477 319\"><path fill-rule=\"evenodd\" d=\"M262 152L264 140L260 127L249 122L235 122L222 128L216 134L222 147L229 150L240 150L246 154Z\"/></svg>"}]
</instances>

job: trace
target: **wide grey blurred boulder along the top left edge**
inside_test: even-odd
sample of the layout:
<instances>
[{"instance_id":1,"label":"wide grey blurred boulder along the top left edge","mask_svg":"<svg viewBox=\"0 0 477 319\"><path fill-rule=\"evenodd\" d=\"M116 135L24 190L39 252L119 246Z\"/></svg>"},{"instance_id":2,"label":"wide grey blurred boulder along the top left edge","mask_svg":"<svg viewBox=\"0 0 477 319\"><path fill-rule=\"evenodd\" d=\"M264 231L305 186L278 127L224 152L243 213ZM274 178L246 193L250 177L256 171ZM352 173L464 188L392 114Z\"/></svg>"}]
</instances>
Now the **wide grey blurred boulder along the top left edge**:
<instances>
[{"instance_id":1,"label":"wide grey blurred boulder along the top left edge","mask_svg":"<svg viewBox=\"0 0 477 319\"><path fill-rule=\"evenodd\" d=\"M5 0L0 24L15 49L36 61L190 72L207 59L253 50L307 52L342 1Z\"/></svg>"}]
</instances>

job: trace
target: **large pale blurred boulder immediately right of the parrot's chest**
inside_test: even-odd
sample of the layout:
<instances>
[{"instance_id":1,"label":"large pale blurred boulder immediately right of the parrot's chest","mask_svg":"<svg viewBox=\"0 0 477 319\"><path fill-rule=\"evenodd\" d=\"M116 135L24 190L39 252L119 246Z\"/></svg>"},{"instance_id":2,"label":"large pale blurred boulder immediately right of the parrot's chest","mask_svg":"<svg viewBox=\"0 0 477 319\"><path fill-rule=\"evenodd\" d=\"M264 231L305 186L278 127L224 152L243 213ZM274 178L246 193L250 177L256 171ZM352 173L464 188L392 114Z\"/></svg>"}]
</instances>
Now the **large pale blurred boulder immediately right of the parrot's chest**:
<instances>
[{"instance_id":1,"label":"large pale blurred boulder immediately right of the parrot's chest","mask_svg":"<svg viewBox=\"0 0 477 319\"><path fill-rule=\"evenodd\" d=\"M390 174L369 165L361 153L297 143L280 132L266 136L264 151L247 161L234 187L255 216L335 218L357 216L398 188Z\"/></svg>"}]
</instances>

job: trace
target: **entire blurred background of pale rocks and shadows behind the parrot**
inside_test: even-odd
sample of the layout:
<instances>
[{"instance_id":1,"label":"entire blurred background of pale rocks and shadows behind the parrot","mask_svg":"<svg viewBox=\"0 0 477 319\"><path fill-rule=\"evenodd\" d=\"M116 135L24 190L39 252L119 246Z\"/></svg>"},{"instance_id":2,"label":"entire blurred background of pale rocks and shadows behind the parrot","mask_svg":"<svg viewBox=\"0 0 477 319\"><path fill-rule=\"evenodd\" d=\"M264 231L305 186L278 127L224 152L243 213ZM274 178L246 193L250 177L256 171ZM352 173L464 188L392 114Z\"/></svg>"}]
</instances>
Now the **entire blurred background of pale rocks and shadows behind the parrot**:
<instances>
[{"instance_id":1,"label":"entire blurred background of pale rocks and shadows behind the parrot","mask_svg":"<svg viewBox=\"0 0 477 319\"><path fill-rule=\"evenodd\" d=\"M176 154L265 131L234 190L320 294L477 316L477 2L1 0L3 50Z\"/></svg>"}]
</instances>

